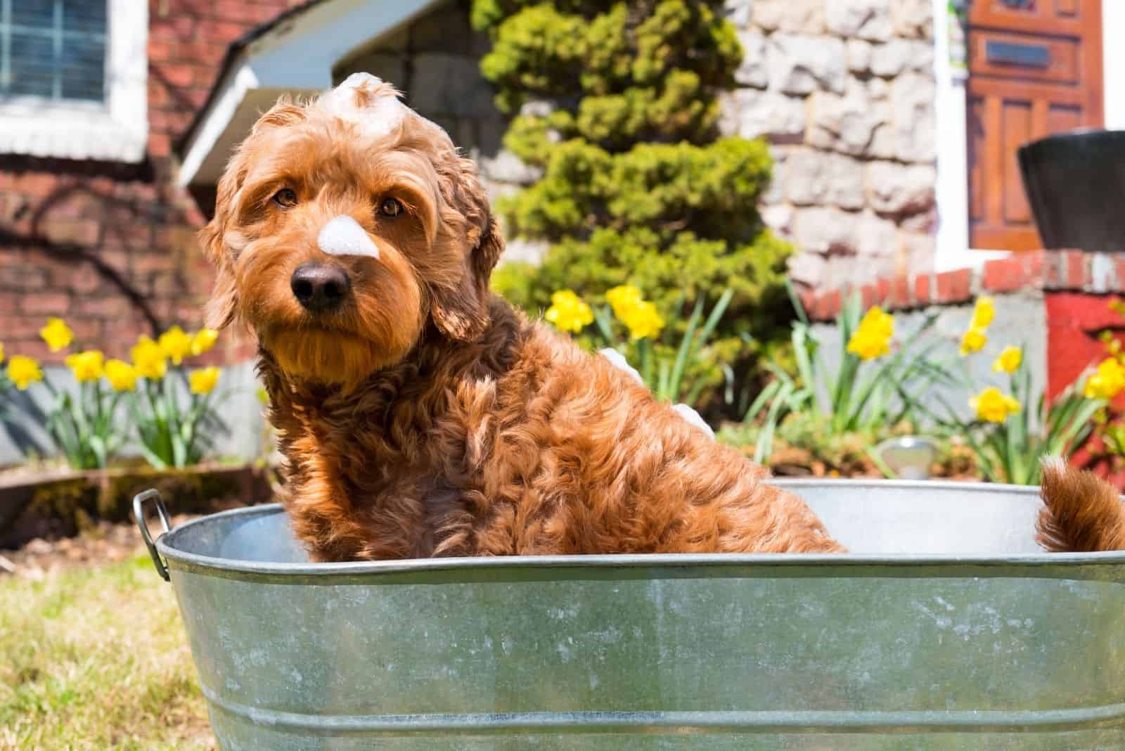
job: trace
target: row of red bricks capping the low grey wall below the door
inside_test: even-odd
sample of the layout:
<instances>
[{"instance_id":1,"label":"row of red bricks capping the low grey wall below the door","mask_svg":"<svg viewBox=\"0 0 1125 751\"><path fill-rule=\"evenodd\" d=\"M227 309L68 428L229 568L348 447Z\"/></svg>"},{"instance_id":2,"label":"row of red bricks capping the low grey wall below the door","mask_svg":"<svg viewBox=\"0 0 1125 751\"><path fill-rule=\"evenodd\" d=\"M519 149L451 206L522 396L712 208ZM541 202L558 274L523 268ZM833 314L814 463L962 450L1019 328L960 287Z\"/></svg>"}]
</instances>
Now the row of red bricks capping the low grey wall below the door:
<instances>
[{"instance_id":1,"label":"row of red bricks capping the low grey wall below the door","mask_svg":"<svg viewBox=\"0 0 1125 751\"><path fill-rule=\"evenodd\" d=\"M969 302L978 295L1022 290L1112 295L1125 291L1125 253L1032 251L988 261L980 269L901 274L874 283L831 290L809 290L801 302L810 318L829 320L847 296L858 290L864 307L907 310L929 305Z\"/></svg>"}]
</instances>

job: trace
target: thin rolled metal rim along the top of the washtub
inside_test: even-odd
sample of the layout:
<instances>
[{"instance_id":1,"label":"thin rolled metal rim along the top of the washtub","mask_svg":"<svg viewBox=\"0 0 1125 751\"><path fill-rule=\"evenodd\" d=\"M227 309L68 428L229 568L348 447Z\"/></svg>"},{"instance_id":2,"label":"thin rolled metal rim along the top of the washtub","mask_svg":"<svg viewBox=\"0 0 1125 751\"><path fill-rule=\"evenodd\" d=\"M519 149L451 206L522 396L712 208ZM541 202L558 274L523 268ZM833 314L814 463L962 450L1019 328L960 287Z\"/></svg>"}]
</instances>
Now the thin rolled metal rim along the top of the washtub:
<instances>
[{"instance_id":1,"label":"thin rolled metal rim along the top of the washtub","mask_svg":"<svg viewBox=\"0 0 1125 751\"><path fill-rule=\"evenodd\" d=\"M1038 488L1032 486L1010 486L984 482L955 482L929 480L847 480L847 479L777 479L771 485L785 488L802 486L842 486L862 487L879 485L882 488L892 487L912 489L919 486L926 488L943 488L962 492L990 492L1004 490L1018 495L1037 496ZM958 554L853 554L853 553L627 553L597 555L505 555L505 557L462 557L410 559L399 561L352 561L345 563L284 563L269 561L249 561L244 559L218 558L191 553L177 548L180 537L190 533L199 525L212 524L215 519L227 517L255 517L284 514L281 504L264 504L235 508L217 514L192 519L181 524L155 540L156 551L169 562L169 568L179 571L190 571L218 576L222 578L267 580L288 583L342 583L343 580L354 582L357 578L388 577L396 574L456 574L457 572L493 572L495 574L519 574L543 572L546 570L576 569L587 573L595 570L665 570L666 573L690 576L704 573L708 569L809 569L818 576L826 569L837 569L842 576L857 576L856 569L884 569L893 567L904 576L934 576L933 569L954 568L964 576L1004 576L1017 568L1064 568L1072 573L1079 565L1120 565L1125 564L1125 551L1106 551L1097 553L1009 553L1002 555L958 555ZM906 569L906 570L903 570ZM926 573L922 573L925 571ZM1041 576L1048 576L1040 571ZM1060 576L1056 573L1055 576ZM1101 577L1098 577L1101 578ZM1116 577L1115 577L1116 578Z\"/></svg>"}]
</instances>

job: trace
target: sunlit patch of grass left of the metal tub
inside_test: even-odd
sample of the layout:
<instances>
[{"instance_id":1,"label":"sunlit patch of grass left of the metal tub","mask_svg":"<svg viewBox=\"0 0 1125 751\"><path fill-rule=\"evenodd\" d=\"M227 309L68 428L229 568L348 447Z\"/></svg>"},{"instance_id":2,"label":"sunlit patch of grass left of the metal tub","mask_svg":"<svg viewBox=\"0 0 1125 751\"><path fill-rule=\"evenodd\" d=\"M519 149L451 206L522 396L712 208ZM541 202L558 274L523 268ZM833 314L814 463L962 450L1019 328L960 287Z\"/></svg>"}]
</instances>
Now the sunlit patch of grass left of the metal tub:
<instances>
[{"instance_id":1,"label":"sunlit patch of grass left of the metal tub","mask_svg":"<svg viewBox=\"0 0 1125 751\"><path fill-rule=\"evenodd\" d=\"M0 749L214 749L172 587L147 553L0 577Z\"/></svg>"}]
</instances>

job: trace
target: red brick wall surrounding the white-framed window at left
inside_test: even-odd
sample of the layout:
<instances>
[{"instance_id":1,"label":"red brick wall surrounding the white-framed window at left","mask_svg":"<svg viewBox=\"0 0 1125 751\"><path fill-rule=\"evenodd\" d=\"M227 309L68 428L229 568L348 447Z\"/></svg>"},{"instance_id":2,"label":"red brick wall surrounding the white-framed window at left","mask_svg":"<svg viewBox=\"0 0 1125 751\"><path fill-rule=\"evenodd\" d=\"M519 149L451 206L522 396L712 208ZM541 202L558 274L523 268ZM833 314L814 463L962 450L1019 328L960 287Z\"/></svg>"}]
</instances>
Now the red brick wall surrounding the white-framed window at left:
<instances>
[{"instance_id":1,"label":"red brick wall surrounding the white-framed window at left","mask_svg":"<svg viewBox=\"0 0 1125 751\"><path fill-rule=\"evenodd\" d=\"M200 325L212 275L195 233L210 207L174 186L172 143L206 100L227 45L300 1L150 1L142 164L0 155L0 342L9 354L57 362L37 334L47 316L64 317L76 344L116 356L142 333ZM250 354L245 342L220 341L216 360Z\"/></svg>"}]
</instances>

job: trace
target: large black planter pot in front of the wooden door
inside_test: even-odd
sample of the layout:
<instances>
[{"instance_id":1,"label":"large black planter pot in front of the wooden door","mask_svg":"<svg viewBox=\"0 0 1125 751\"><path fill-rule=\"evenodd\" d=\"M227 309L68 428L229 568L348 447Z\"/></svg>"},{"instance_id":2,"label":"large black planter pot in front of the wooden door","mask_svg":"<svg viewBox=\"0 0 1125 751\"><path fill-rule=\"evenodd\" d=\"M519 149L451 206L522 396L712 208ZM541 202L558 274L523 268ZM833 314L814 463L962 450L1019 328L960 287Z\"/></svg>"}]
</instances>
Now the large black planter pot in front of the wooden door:
<instances>
[{"instance_id":1,"label":"large black planter pot in front of the wooden door","mask_svg":"<svg viewBox=\"0 0 1125 751\"><path fill-rule=\"evenodd\" d=\"M1125 251L1125 130L1074 130L1019 147L1043 246Z\"/></svg>"}]
</instances>

